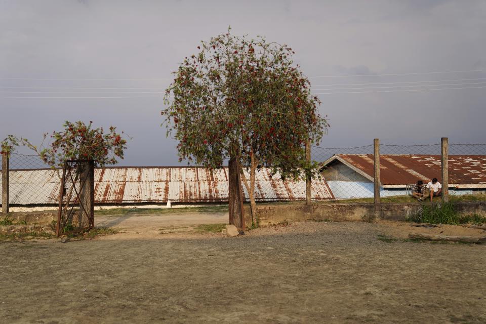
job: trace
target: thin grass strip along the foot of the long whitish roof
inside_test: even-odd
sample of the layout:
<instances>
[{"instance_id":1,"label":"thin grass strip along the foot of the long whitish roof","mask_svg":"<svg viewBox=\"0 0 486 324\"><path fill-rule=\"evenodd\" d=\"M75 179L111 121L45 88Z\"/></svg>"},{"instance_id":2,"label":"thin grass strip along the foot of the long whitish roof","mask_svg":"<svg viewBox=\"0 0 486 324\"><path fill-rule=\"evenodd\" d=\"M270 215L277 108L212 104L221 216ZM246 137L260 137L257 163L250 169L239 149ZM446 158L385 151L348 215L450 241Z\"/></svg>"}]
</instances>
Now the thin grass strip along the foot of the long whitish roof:
<instances>
[{"instance_id":1,"label":"thin grass strip along the foot of the long whitish roof","mask_svg":"<svg viewBox=\"0 0 486 324\"><path fill-rule=\"evenodd\" d=\"M184 207L184 208L114 208L95 211L95 216L140 216L167 215L180 213L227 212L228 206Z\"/></svg>"}]
</instances>

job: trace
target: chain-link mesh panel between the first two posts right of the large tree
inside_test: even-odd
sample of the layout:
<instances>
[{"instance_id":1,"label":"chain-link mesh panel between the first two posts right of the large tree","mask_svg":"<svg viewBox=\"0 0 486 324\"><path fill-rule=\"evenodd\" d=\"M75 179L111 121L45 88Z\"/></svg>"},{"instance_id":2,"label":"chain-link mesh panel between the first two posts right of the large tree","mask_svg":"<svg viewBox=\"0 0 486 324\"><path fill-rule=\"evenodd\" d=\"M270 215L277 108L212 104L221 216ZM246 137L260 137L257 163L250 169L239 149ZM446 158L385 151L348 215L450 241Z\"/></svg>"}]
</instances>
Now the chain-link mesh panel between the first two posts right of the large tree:
<instances>
[{"instance_id":1,"label":"chain-link mesh panel between the first two posts right of the large tree","mask_svg":"<svg viewBox=\"0 0 486 324\"><path fill-rule=\"evenodd\" d=\"M312 146L312 159L319 163L321 175L326 179L334 198L373 198L373 145L335 148ZM356 164L371 166L371 173L362 172L356 168Z\"/></svg>"}]
</instances>

